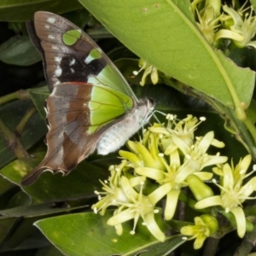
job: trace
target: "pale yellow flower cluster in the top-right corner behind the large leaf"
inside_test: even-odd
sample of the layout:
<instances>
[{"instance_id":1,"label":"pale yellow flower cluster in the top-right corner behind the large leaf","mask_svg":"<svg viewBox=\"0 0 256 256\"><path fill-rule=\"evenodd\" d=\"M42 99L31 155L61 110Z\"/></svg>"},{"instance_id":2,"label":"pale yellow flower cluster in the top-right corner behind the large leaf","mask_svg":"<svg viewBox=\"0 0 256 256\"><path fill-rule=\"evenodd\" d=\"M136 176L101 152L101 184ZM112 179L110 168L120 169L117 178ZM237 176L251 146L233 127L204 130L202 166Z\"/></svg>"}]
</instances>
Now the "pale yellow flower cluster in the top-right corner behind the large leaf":
<instances>
[{"instance_id":1,"label":"pale yellow flower cluster in the top-right corner behind the large leaf","mask_svg":"<svg viewBox=\"0 0 256 256\"><path fill-rule=\"evenodd\" d=\"M192 10L197 18L198 27L209 44L214 44L220 38L230 39L237 47L252 46L256 48L255 41L251 41L256 33L256 16L250 6L245 9L246 3L235 9L224 5L221 14L220 0L194 0Z\"/></svg>"}]
</instances>

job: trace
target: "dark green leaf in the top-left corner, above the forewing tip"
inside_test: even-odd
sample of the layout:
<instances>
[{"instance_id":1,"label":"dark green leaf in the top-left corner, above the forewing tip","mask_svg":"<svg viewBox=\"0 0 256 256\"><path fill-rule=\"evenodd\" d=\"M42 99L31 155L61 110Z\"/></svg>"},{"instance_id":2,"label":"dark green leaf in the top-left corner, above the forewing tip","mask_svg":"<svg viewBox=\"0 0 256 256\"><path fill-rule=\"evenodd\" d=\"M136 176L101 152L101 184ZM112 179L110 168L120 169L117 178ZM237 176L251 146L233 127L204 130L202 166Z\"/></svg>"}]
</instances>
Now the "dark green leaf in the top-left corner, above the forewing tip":
<instances>
[{"instance_id":1,"label":"dark green leaf in the top-left corner, above the forewing tip","mask_svg":"<svg viewBox=\"0 0 256 256\"><path fill-rule=\"evenodd\" d=\"M0 20L25 21L32 19L38 10L45 10L56 14L66 13L82 6L77 0L1 0Z\"/></svg>"}]
</instances>

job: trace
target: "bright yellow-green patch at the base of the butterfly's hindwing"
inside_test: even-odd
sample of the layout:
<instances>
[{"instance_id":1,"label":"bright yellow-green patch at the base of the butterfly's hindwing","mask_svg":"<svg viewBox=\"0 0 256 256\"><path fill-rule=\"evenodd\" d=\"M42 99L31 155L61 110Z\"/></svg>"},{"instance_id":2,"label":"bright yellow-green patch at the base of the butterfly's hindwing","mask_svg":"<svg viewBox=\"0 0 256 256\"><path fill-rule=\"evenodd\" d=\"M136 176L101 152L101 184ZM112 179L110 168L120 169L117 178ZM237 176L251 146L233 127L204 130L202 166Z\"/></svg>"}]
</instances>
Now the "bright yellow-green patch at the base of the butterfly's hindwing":
<instances>
[{"instance_id":1,"label":"bright yellow-green patch at the base of the butterfly's hindwing","mask_svg":"<svg viewBox=\"0 0 256 256\"><path fill-rule=\"evenodd\" d=\"M91 91L90 108L90 128L92 133L101 125L106 125L133 107L133 100L117 90L104 88L103 86L93 86Z\"/></svg>"}]
</instances>

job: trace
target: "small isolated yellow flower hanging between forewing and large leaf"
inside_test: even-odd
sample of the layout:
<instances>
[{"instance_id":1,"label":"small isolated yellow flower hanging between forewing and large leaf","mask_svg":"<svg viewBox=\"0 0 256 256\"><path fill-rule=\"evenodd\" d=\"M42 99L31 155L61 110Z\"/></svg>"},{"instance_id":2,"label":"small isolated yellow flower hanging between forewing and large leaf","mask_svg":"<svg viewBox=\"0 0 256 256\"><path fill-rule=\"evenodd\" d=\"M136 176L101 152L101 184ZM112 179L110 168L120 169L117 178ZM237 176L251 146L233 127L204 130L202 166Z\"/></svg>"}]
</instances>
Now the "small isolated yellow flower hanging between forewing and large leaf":
<instances>
[{"instance_id":1,"label":"small isolated yellow flower hanging between forewing and large leaf","mask_svg":"<svg viewBox=\"0 0 256 256\"><path fill-rule=\"evenodd\" d=\"M142 70L145 70L144 73L143 73L143 78L140 81L141 85L146 84L146 79L147 79L149 74L150 74L150 79L152 81L152 84L157 84L158 83L159 76L158 76L158 70L157 70L156 67L153 67L152 65L150 65L147 61L144 61L143 59L139 60L139 67L141 67L141 69L139 71L134 71L133 73L135 75L137 75Z\"/></svg>"}]
</instances>

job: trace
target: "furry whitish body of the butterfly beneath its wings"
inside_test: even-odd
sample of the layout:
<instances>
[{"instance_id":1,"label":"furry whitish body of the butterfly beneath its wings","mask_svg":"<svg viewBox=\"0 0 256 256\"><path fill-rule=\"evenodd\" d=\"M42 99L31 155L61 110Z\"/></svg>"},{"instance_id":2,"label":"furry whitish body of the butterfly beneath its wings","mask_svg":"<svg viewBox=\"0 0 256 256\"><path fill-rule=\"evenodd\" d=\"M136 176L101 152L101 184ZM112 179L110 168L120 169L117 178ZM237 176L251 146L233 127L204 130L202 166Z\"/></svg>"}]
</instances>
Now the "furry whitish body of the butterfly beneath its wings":
<instances>
[{"instance_id":1,"label":"furry whitish body of the butterfly beneath its wings","mask_svg":"<svg viewBox=\"0 0 256 256\"><path fill-rule=\"evenodd\" d=\"M108 129L97 143L98 154L109 154L120 147L134 135L144 124L148 122L148 111L152 108L148 99L141 100L134 108L116 120L111 129Z\"/></svg>"}]
</instances>

